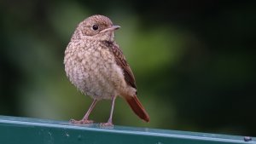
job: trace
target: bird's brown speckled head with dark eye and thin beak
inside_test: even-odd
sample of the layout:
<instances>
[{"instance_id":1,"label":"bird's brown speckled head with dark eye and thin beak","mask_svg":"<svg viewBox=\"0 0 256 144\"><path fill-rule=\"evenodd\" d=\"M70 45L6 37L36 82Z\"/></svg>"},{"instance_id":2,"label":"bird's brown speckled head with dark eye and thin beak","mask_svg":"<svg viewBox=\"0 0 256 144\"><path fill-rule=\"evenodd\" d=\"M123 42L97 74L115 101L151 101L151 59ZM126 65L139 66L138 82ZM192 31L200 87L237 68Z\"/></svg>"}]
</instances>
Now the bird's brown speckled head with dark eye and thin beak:
<instances>
[{"instance_id":1,"label":"bird's brown speckled head with dark eye and thin beak","mask_svg":"<svg viewBox=\"0 0 256 144\"><path fill-rule=\"evenodd\" d=\"M119 27L113 26L112 21L106 16L92 15L79 24L76 33L79 33L80 37L100 41L113 41L113 32Z\"/></svg>"}]
</instances>

